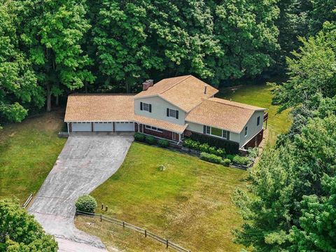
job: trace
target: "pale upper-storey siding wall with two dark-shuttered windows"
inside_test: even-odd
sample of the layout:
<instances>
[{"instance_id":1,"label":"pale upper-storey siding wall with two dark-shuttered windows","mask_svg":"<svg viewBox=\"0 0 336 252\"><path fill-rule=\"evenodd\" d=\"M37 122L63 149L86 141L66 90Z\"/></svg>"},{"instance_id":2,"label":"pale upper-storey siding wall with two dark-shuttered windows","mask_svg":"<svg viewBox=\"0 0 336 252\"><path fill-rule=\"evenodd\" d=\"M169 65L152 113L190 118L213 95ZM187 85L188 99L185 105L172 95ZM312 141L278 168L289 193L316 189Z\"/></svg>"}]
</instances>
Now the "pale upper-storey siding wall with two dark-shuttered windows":
<instances>
[{"instance_id":1,"label":"pale upper-storey siding wall with two dark-shuttered windows","mask_svg":"<svg viewBox=\"0 0 336 252\"><path fill-rule=\"evenodd\" d=\"M152 104L152 112L141 111L140 110L140 102L144 102L147 104ZM168 117L167 116L167 108L174 109L179 111L179 119ZM181 109L178 109L173 104L166 102L164 99L160 97L148 97L148 98L139 98L134 99L134 113L139 116L147 116L149 118L155 118L158 120L165 120L169 123L176 123L179 125L185 124L186 113Z\"/></svg>"}]
</instances>

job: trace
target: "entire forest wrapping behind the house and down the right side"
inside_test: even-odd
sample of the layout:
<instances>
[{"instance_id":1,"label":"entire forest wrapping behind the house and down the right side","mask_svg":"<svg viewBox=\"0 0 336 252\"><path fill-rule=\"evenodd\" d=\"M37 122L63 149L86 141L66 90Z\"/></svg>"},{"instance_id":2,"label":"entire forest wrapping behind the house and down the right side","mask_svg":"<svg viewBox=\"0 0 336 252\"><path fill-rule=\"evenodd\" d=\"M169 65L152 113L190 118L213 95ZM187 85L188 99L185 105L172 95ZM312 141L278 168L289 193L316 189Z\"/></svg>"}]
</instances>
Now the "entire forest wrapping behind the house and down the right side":
<instances>
[{"instance_id":1,"label":"entire forest wrapping behind the house and down the right side","mask_svg":"<svg viewBox=\"0 0 336 252\"><path fill-rule=\"evenodd\" d=\"M0 125L146 78L270 83L293 124L233 200L251 251L336 251L335 0L0 0Z\"/></svg>"}]
</instances>

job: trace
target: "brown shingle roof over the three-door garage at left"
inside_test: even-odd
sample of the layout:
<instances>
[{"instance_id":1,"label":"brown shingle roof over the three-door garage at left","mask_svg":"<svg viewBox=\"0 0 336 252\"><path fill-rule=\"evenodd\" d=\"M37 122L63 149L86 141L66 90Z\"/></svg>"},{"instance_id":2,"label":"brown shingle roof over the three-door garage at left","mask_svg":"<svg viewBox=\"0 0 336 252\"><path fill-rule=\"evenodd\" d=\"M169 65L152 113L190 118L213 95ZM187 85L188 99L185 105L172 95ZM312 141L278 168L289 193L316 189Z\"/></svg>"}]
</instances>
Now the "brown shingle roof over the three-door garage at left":
<instances>
[{"instance_id":1,"label":"brown shingle roof over the three-door garage at left","mask_svg":"<svg viewBox=\"0 0 336 252\"><path fill-rule=\"evenodd\" d=\"M66 104L66 122L133 120L134 94L71 94Z\"/></svg>"}]
</instances>

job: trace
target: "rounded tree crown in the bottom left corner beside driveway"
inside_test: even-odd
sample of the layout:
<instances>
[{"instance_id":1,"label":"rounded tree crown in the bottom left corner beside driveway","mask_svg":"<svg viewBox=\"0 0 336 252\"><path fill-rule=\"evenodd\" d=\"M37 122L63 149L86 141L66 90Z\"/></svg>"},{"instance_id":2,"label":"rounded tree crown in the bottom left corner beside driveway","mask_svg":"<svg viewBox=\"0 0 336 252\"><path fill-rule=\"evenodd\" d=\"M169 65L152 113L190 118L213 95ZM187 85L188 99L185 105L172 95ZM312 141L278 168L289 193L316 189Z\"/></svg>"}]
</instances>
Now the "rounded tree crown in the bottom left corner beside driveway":
<instances>
[{"instance_id":1,"label":"rounded tree crown in the bottom left corner beside driveway","mask_svg":"<svg viewBox=\"0 0 336 252\"><path fill-rule=\"evenodd\" d=\"M0 200L0 248L6 251L56 252L57 242L45 235L41 225L18 200Z\"/></svg>"}]
</instances>

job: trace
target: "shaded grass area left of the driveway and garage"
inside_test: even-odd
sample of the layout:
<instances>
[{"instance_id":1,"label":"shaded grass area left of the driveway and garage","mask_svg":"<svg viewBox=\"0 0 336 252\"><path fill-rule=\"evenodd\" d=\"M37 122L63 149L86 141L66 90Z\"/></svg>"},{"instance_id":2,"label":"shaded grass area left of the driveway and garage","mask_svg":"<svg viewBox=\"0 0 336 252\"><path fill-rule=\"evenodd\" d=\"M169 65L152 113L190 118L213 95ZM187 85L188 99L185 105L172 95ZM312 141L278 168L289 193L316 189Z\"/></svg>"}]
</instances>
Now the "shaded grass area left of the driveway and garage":
<instances>
[{"instance_id":1,"label":"shaded grass area left of the driveway and garage","mask_svg":"<svg viewBox=\"0 0 336 252\"><path fill-rule=\"evenodd\" d=\"M63 117L45 113L0 130L0 198L25 202L38 191L66 141L57 137Z\"/></svg>"}]
</instances>

